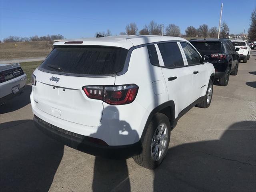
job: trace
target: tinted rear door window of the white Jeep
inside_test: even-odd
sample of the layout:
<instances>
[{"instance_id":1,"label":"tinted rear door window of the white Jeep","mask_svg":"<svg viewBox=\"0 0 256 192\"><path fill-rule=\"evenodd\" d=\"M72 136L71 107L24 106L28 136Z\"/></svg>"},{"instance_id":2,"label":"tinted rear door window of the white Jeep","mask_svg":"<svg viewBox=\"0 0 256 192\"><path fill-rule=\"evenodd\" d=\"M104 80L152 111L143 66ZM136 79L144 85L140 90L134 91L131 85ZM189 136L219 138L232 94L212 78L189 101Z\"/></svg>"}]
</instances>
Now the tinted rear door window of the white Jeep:
<instances>
[{"instance_id":1,"label":"tinted rear door window of the white Jeep","mask_svg":"<svg viewBox=\"0 0 256 192\"><path fill-rule=\"evenodd\" d=\"M180 49L176 42L158 44L166 67L184 66L184 62L180 53Z\"/></svg>"}]
</instances>

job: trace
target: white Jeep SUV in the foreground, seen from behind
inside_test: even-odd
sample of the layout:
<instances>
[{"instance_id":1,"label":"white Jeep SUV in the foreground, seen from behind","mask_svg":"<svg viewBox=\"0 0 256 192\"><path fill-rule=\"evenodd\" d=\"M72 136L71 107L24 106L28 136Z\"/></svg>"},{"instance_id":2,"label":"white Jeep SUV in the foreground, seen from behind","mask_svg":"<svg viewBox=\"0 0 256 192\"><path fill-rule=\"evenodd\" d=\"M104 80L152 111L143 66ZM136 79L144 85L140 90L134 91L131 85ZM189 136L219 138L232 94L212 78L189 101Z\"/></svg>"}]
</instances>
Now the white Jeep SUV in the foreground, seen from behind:
<instances>
[{"instance_id":1,"label":"white Jeep SUV in the foreground, seen from behind","mask_svg":"<svg viewBox=\"0 0 256 192\"><path fill-rule=\"evenodd\" d=\"M156 168L190 108L210 106L214 67L183 38L67 40L32 74L36 126L93 155Z\"/></svg>"}]
</instances>

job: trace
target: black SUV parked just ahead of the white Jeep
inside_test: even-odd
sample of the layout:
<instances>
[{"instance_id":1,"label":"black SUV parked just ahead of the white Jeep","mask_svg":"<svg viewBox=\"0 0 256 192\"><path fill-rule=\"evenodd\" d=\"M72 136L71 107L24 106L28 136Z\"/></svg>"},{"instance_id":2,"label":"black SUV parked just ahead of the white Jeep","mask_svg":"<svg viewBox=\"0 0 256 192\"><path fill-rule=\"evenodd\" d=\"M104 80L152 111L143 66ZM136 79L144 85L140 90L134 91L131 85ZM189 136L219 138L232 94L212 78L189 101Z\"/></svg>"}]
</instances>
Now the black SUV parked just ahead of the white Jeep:
<instances>
[{"instance_id":1,"label":"black SUV parked just ahead of the white Jeep","mask_svg":"<svg viewBox=\"0 0 256 192\"><path fill-rule=\"evenodd\" d=\"M207 55L209 62L215 68L215 79L220 80L221 86L227 86L229 75L236 75L238 72L239 54L236 52L232 42L226 38L220 39L193 39L192 45L201 55Z\"/></svg>"}]
</instances>

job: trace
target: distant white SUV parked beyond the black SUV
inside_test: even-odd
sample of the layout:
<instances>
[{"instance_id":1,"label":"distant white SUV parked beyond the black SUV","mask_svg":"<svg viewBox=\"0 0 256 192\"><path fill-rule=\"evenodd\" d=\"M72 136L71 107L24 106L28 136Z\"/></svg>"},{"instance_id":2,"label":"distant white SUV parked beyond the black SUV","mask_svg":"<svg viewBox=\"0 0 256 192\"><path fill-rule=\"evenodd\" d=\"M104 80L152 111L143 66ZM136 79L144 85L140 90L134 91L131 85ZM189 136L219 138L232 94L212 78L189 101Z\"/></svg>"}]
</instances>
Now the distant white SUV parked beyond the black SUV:
<instances>
[{"instance_id":1,"label":"distant white SUV parked beyond the black SUV","mask_svg":"<svg viewBox=\"0 0 256 192\"><path fill-rule=\"evenodd\" d=\"M247 60L250 59L251 48L247 40L231 40L235 48L239 48L239 61L243 60L244 63L247 63Z\"/></svg>"}]
</instances>

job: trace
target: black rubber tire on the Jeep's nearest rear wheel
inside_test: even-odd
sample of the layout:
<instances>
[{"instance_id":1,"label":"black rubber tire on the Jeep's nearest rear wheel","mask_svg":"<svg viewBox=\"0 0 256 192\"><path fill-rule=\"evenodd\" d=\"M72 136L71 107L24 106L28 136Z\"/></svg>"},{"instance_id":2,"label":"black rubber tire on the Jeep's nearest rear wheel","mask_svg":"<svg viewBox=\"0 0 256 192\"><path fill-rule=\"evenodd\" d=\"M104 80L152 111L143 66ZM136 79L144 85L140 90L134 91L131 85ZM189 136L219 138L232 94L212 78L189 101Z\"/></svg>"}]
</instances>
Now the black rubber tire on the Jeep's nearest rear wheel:
<instances>
[{"instance_id":1,"label":"black rubber tire on the Jeep's nearest rear wheel","mask_svg":"<svg viewBox=\"0 0 256 192\"><path fill-rule=\"evenodd\" d=\"M162 152L162 155L160 156L160 158L158 160L153 160L151 153L152 153L152 142L153 142L153 137L155 132L157 131L157 128L161 125L161 124L165 124L166 125L166 133L167 133L167 142L166 142L166 148L164 149L164 151ZM140 154L137 154L135 156L133 156L134 161L147 169L154 169L156 167L158 167L161 162L163 161L164 157L166 156L166 153L168 151L168 146L170 143L170 134L171 134L171 126L170 126L170 121L168 119L168 117L162 113L156 113L154 115L154 117L152 118L147 132L145 134L143 143L142 143L142 151L140 152ZM159 142L155 142L158 143ZM157 150L158 151L158 148Z\"/></svg>"}]
</instances>

